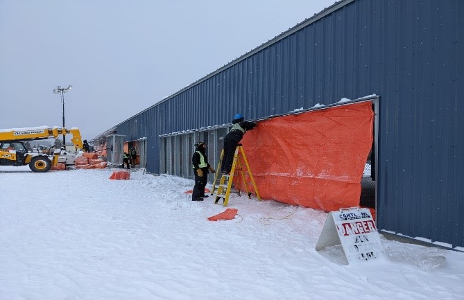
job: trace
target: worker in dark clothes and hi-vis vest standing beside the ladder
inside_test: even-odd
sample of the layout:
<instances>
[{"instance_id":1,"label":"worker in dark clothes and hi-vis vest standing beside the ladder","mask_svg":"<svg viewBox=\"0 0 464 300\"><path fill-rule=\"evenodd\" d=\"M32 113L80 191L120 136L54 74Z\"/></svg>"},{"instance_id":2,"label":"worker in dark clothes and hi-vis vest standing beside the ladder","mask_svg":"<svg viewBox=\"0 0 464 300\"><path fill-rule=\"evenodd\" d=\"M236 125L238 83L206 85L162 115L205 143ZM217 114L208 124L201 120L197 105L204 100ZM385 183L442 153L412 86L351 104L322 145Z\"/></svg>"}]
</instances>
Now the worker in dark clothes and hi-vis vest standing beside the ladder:
<instances>
[{"instance_id":1,"label":"worker in dark clothes and hi-vis vest standing beside the ladder","mask_svg":"<svg viewBox=\"0 0 464 300\"><path fill-rule=\"evenodd\" d=\"M196 143L196 150L191 157L191 162L194 166L195 173L195 186L194 193L191 194L192 201L203 201L203 198L208 197L205 195L205 186L207 183L208 171L215 173L216 171L208 164L208 157L206 155L206 143L199 141Z\"/></svg>"}]
</instances>

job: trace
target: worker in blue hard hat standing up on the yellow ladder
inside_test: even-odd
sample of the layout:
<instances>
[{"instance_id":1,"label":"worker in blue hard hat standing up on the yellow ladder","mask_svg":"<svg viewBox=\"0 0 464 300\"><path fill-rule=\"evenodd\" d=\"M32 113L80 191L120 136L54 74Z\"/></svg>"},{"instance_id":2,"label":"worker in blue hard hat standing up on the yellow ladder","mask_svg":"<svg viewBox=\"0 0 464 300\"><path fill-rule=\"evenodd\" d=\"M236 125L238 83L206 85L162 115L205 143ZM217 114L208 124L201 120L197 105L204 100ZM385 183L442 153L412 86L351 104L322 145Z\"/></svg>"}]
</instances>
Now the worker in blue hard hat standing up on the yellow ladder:
<instances>
[{"instance_id":1,"label":"worker in blue hard hat standing up on the yellow ladder","mask_svg":"<svg viewBox=\"0 0 464 300\"><path fill-rule=\"evenodd\" d=\"M243 139L243 134L247 130L252 130L257 125L255 122L243 121L241 114L236 114L232 120L232 128L224 138L224 155L221 164L221 174L229 174L234 161L234 154L237 145Z\"/></svg>"}]
</instances>

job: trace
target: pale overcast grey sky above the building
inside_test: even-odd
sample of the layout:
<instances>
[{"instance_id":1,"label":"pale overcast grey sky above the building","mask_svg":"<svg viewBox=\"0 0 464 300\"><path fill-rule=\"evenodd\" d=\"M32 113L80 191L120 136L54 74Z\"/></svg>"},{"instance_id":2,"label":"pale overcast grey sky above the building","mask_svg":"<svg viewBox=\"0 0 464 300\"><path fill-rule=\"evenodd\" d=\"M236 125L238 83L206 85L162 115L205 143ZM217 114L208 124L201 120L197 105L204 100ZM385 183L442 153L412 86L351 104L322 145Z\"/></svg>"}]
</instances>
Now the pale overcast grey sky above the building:
<instances>
[{"instance_id":1,"label":"pale overcast grey sky above the building","mask_svg":"<svg viewBox=\"0 0 464 300\"><path fill-rule=\"evenodd\" d=\"M0 129L84 139L267 42L334 0L0 0Z\"/></svg>"}]
</instances>

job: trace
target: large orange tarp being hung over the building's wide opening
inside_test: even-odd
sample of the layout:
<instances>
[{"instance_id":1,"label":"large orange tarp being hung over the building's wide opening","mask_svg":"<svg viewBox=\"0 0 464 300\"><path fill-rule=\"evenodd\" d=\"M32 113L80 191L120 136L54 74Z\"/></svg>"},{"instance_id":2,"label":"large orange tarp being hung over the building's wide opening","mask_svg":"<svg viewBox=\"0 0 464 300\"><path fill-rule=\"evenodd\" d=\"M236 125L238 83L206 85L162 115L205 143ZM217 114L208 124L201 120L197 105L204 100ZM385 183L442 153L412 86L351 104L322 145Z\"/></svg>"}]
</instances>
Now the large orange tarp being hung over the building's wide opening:
<instances>
[{"instance_id":1,"label":"large orange tarp being hung over the building's wide opening","mask_svg":"<svg viewBox=\"0 0 464 300\"><path fill-rule=\"evenodd\" d=\"M359 206L373 120L367 101L260 121L241 143L261 198L325 211Z\"/></svg>"}]
</instances>

